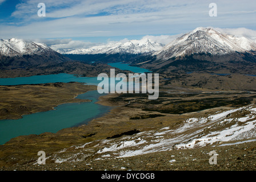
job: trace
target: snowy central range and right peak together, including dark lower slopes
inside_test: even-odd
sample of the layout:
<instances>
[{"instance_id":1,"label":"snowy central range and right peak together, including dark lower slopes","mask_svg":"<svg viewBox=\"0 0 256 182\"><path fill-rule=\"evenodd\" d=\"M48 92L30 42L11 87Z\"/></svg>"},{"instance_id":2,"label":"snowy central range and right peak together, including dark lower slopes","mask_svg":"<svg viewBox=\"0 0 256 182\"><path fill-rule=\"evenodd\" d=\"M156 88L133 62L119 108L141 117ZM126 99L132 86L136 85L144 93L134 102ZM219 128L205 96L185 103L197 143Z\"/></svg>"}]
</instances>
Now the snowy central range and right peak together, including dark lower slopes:
<instances>
[{"instance_id":1,"label":"snowy central range and right peak together, including dark lower slopes","mask_svg":"<svg viewBox=\"0 0 256 182\"><path fill-rule=\"evenodd\" d=\"M256 43L244 36L228 35L214 28L198 27L162 45L143 38L86 49L58 50L74 60L111 63L123 61L155 72L182 70L254 73L248 65L256 63ZM241 65L242 64L242 65ZM254 65L253 65L254 67ZM255 72L256 73L256 72Z\"/></svg>"}]
</instances>

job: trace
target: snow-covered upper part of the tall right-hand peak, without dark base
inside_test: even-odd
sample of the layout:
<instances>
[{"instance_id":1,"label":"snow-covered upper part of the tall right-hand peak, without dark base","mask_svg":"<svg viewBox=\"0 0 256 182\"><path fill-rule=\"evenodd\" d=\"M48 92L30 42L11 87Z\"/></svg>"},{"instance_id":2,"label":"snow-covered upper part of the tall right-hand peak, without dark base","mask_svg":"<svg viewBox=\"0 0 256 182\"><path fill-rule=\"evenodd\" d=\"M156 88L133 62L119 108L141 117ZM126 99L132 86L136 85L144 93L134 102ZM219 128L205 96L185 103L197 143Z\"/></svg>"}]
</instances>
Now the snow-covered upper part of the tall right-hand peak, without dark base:
<instances>
[{"instance_id":1,"label":"snow-covered upper part of the tall right-hand peak, without dark base","mask_svg":"<svg viewBox=\"0 0 256 182\"><path fill-rule=\"evenodd\" d=\"M196 53L225 55L249 51L256 51L256 44L253 40L223 34L213 28L199 27L173 40L154 55L163 61L172 57L183 57Z\"/></svg>"}]
</instances>

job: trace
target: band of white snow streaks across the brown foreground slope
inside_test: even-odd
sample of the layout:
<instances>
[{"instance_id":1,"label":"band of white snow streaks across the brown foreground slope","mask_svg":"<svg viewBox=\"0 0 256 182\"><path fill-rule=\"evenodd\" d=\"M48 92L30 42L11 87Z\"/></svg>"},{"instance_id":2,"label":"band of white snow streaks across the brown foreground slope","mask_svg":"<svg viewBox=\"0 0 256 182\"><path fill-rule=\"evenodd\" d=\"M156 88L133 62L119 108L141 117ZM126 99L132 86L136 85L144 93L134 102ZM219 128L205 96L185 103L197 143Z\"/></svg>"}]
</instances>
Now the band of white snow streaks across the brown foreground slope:
<instances>
[{"instance_id":1,"label":"band of white snow streaks across the brown foreground slope","mask_svg":"<svg viewBox=\"0 0 256 182\"><path fill-rule=\"evenodd\" d=\"M189 118L158 131L144 131L131 136L73 146L70 147L73 150L68 148L51 157L55 162L75 162L84 160L87 156L94 156L97 159L123 158L158 151L216 145L222 142L232 144L235 140L256 138L255 126L256 108L255 105L250 105L218 111L206 117Z\"/></svg>"}]
</instances>

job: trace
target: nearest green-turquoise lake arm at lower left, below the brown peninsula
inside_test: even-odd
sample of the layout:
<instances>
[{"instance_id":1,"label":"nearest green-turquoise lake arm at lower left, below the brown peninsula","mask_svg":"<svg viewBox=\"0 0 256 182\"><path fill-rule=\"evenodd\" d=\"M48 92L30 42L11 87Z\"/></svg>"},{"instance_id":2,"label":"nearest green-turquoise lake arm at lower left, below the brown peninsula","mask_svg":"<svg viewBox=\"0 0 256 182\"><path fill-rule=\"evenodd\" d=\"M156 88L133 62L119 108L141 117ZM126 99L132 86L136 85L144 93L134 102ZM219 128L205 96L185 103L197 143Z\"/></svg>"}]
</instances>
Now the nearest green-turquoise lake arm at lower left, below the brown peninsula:
<instances>
[{"instance_id":1,"label":"nearest green-turquoise lake arm at lower left, below the brown peninsula","mask_svg":"<svg viewBox=\"0 0 256 182\"><path fill-rule=\"evenodd\" d=\"M98 101L97 90L79 95L77 98L91 102L62 104L55 110L23 115L21 119L5 119L0 121L0 144L20 135L41 134L78 126L99 117L110 110L110 107L95 104Z\"/></svg>"}]
</instances>

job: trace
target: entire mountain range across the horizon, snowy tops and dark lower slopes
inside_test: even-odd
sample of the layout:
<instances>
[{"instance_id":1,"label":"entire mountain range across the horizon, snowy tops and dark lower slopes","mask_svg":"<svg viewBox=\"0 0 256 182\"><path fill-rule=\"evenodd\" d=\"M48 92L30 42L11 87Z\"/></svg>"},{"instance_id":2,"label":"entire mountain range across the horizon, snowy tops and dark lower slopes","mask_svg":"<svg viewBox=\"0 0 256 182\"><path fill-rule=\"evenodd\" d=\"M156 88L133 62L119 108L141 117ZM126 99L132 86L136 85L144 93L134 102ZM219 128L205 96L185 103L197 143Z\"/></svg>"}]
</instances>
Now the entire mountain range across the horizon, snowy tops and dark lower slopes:
<instances>
[{"instance_id":1,"label":"entire mountain range across the horizon, snowy tops and dark lower slopes","mask_svg":"<svg viewBox=\"0 0 256 182\"><path fill-rule=\"evenodd\" d=\"M167 75L200 71L256 74L255 41L214 28L196 28L166 46L143 38L57 51L42 43L0 39L0 68L49 67L72 60L87 64L122 61Z\"/></svg>"}]
</instances>

